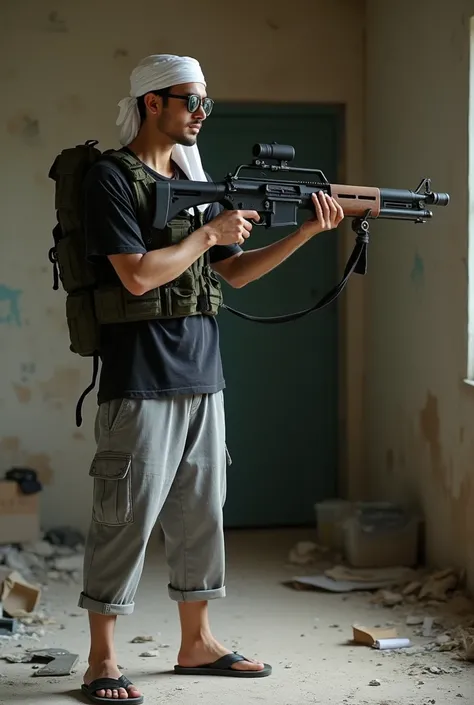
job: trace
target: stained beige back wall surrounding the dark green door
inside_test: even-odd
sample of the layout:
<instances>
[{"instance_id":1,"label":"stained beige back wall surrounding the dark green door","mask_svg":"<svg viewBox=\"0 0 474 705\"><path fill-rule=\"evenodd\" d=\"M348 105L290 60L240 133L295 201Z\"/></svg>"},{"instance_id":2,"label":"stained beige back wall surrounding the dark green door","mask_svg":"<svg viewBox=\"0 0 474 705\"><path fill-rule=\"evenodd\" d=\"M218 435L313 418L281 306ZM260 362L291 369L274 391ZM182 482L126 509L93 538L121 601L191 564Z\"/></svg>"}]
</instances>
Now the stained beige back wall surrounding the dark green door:
<instances>
[{"instance_id":1,"label":"stained beige back wall surrounding the dark green door","mask_svg":"<svg viewBox=\"0 0 474 705\"><path fill-rule=\"evenodd\" d=\"M117 102L128 94L137 61L149 53L195 55L217 100L345 103L345 176L360 182L362 0L290 5L278 0L268 10L266 5L251 0L237 6L218 0L1 3L0 472L13 464L41 471L47 483L46 527L87 525L96 409L94 391L78 431L74 408L91 365L69 352L64 294L51 288L47 255L55 221L47 173L55 155L70 145L93 138L102 148L115 146ZM352 243L349 236L346 247ZM362 467L362 283L352 283L350 292L341 423L351 441L346 469L353 469L347 475L353 492ZM9 294L18 302L19 325L14 318L5 320Z\"/></svg>"}]
</instances>

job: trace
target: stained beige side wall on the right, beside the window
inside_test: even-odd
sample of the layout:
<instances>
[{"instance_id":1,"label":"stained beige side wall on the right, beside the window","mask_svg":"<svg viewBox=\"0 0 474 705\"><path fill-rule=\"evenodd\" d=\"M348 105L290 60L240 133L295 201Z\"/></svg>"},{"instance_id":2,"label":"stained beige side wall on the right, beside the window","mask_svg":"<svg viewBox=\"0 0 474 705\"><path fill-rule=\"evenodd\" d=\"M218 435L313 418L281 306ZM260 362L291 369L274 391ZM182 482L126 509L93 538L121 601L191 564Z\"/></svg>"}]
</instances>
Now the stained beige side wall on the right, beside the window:
<instances>
[{"instance_id":1,"label":"stained beige side wall on the right, beside the window","mask_svg":"<svg viewBox=\"0 0 474 705\"><path fill-rule=\"evenodd\" d=\"M474 587L474 388L467 371L468 0L368 0L369 183L448 191L423 226L374 227L367 295L372 494L409 497L430 561Z\"/></svg>"}]
</instances>

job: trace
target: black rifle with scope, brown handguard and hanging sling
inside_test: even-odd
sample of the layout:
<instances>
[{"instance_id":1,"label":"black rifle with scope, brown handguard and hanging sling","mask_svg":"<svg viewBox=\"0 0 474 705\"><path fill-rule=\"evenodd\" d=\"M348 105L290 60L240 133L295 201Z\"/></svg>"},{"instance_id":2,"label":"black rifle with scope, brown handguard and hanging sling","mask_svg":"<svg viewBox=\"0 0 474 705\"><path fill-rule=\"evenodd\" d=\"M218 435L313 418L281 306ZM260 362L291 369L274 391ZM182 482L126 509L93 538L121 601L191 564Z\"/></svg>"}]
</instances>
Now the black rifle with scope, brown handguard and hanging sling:
<instances>
[{"instance_id":1,"label":"black rifle with scope, brown handguard and hanging sling","mask_svg":"<svg viewBox=\"0 0 474 705\"><path fill-rule=\"evenodd\" d=\"M264 228L297 226L298 212L308 211L314 216L313 193L324 191L342 207L345 216L352 220L352 230L356 233L354 250L344 270L344 276L328 294L315 305L303 311L284 316L258 317L241 313L223 304L223 308L251 321L261 323L284 323L321 309L334 301L344 289L352 273L367 273L367 247L369 244L369 220L387 219L425 223L433 217L428 206L447 206L449 194L431 190L431 179L424 178L417 188L409 189L378 188L372 186L351 186L331 184L321 169L289 166L295 157L295 149L284 144L260 144L253 146L251 164L239 165L234 173L229 173L222 181L160 181L156 184L156 210L153 226L166 227L182 210L188 210L204 203L220 203L227 209L255 210L260 221L252 221L254 226ZM269 164L271 159L276 164ZM242 178L243 170L259 171L263 178ZM301 173L304 180L270 178L265 172Z\"/></svg>"}]
</instances>

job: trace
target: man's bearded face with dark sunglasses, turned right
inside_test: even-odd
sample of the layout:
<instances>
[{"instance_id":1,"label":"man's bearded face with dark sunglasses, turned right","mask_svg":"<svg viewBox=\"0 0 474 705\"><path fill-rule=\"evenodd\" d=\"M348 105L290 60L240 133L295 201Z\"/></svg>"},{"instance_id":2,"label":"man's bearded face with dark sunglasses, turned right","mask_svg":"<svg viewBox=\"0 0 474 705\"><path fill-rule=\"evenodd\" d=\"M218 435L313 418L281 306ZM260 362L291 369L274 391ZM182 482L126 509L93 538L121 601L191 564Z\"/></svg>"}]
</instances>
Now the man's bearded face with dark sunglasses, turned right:
<instances>
[{"instance_id":1,"label":"man's bearded face with dark sunglasses, turned right","mask_svg":"<svg viewBox=\"0 0 474 705\"><path fill-rule=\"evenodd\" d=\"M156 108L156 126L160 132L177 144L192 146L196 143L197 136L206 113L200 100L195 100L196 107L188 108L189 96L206 98L206 88L202 83L181 83L169 89L171 95L167 96L166 105L160 96L155 97L152 105Z\"/></svg>"}]
</instances>

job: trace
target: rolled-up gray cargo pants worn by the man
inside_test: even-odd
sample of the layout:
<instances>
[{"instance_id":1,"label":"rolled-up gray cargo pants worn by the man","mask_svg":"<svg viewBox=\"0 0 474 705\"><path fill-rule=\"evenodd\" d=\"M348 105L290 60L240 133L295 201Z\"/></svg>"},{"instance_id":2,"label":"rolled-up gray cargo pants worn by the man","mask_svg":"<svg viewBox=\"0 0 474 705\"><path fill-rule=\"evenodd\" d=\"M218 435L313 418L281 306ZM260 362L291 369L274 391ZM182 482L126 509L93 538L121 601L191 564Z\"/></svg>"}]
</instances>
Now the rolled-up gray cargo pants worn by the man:
<instances>
[{"instance_id":1,"label":"rolled-up gray cargo pants worn by the man","mask_svg":"<svg viewBox=\"0 0 474 705\"><path fill-rule=\"evenodd\" d=\"M148 539L160 521L176 601L225 596L223 393L101 404L92 521L79 606L131 614Z\"/></svg>"}]
</instances>

